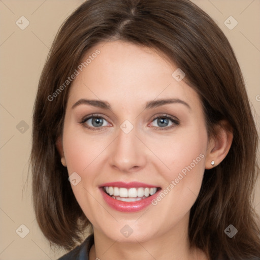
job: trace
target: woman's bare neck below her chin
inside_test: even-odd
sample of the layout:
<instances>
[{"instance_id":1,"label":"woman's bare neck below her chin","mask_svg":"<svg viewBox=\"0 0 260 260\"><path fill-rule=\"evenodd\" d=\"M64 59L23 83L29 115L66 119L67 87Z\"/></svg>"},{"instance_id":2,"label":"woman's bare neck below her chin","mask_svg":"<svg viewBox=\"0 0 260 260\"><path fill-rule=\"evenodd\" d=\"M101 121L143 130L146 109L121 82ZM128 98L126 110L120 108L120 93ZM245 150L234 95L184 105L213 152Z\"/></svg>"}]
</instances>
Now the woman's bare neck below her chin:
<instances>
[{"instance_id":1,"label":"woman's bare neck below her chin","mask_svg":"<svg viewBox=\"0 0 260 260\"><path fill-rule=\"evenodd\" d=\"M162 235L149 239L136 236L131 242L113 240L94 228L94 245L90 249L89 260L207 260L201 250L190 249L187 224L188 217Z\"/></svg>"}]
</instances>

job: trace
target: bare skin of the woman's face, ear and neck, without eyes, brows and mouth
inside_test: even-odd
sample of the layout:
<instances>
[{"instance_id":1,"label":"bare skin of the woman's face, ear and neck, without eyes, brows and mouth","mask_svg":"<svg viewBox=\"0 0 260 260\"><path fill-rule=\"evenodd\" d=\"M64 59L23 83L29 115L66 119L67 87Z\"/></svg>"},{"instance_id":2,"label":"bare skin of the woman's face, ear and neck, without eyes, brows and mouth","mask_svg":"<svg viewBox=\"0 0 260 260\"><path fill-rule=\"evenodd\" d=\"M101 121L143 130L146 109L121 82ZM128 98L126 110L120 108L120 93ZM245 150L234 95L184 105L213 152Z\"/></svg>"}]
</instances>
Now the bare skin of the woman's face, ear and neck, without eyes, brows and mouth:
<instances>
[{"instance_id":1,"label":"bare skin of the woman's face, ear and neck, without eyes, brows and mouth","mask_svg":"<svg viewBox=\"0 0 260 260\"><path fill-rule=\"evenodd\" d=\"M163 55L116 41L94 46L86 57L96 49L101 53L72 83L63 134L57 142L69 175L76 172L81 177L72 189L93 224L90 260L207 259L200 250L189 249L189 212L204 170L213 167L212 160L215 166L223 160L232 134L218 127L219 138L208 137L198 94L172 77L177 67ZM189 108L175 103L144 110L148 101L169 98L182 100ZM106 101L111 109L87 104L72 108L80 99ZM92 113L105 118L98 131L85 127L94 128L91 119L80 123ZM164 115L179 124L169 120L161 126L155 118ZM120 129L125 120L134 126L128 134ZM165 189L200 154L204 155L200 162L155 206L118 212L102 198L99 185L105 182L139 181ZM120 232L125 225L133 230L128 238Z\"/></svg>"}]
</instances>

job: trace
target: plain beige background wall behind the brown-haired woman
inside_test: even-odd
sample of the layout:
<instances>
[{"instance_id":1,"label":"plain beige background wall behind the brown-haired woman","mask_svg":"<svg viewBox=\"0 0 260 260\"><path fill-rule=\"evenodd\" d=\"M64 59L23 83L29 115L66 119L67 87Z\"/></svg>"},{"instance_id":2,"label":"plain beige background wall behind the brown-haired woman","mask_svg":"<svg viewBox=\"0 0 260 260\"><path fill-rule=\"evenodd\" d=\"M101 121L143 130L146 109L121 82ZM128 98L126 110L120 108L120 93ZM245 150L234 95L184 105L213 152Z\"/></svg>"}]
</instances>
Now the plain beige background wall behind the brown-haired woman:
<instances>
[{"instance_id":1,"label":"plain beige background wall behind the brown-haired woman","mask_svg":"<svg viewBox=\"0 0 260 260\"><path fill-rule=\"evenodd\" d=\"M54 36L80 0L0 0L0 259L57 259L41 234L31 206L30 175L26 184L30 153L32 107L41 70ZM259 130L260 111L260 1L193 0L220 26L234 47L245 78ZM16 21L24 16L29 25L21 30ZM233 16L238 25L229 29L224 21ZM233 25L234 21L231 22ZM28 125L26 130L25 121ZM24 133L16 126L20 123ZM19 128L19 127L18 127ZM260 185L254 207L260 213ZM16 230L24 224L25 238ZM21 231L21 228L18 230ZM25 229L23 228L23 232ZM20 232L19 234L22 234ZM24 233L23 233L24 234Z\"/></svg>"}]
</instances>

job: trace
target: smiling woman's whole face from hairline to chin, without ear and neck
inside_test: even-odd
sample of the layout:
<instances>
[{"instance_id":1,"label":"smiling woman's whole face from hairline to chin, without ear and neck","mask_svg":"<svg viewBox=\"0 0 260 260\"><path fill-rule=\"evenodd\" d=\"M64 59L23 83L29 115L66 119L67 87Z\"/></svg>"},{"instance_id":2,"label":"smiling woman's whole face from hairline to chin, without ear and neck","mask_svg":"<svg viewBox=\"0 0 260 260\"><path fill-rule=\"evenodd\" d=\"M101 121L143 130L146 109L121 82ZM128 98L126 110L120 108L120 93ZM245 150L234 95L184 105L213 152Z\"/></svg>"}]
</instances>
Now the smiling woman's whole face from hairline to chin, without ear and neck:
<instances>
[{"instance_id":1,"label":"smiling woman's whole face from hairline to chin, without ear and neck","mask_svg":"<svg viewBox=\"0 0 260 260\"><path fill-rule=\"evenodd\" d=\"M187 229L208 152L198 94L152 49L103 42L88 57L70 89L62 137L80 207L113 240Z\"/></svg>"}]
</instances>

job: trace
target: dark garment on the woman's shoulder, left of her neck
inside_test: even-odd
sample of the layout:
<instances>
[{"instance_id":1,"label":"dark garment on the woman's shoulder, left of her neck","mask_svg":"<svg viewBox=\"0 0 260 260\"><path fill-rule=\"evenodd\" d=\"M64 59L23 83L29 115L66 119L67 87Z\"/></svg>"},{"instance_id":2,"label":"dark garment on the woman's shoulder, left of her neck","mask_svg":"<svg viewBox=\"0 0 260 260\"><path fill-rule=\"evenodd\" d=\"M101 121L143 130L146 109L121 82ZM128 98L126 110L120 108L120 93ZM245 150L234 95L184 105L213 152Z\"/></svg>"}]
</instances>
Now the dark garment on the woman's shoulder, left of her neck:
<instances>
[{"instance_id":1,"label":"dark garment on the woman's shoulder, left of her neck","mask_svg":"<svg viewBox=\"0 0 260 260\"><path fill-rule=\"evenodd\" d=\"M94 244L94 235L89 235L82 244L76 246L73 250L64 254L57 260L88 260L89 250Z\"/></svg>"}]
</instances>

